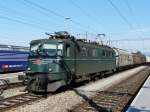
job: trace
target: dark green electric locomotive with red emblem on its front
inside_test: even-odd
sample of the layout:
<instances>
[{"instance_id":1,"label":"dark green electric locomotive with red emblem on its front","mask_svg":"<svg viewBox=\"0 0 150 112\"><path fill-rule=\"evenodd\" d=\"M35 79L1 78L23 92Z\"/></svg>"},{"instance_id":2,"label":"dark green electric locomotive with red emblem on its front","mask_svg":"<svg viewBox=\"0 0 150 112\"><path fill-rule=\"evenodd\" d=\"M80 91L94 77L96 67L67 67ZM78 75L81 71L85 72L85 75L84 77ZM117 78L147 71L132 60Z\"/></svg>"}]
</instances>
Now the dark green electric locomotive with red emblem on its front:
<instances>
[{"instance_id":1,"label":"dark green electric locomotive with red emblem on its front","mask_svg":"<svg viewBox=\"0 0 150 112\"><path fill-rule=\"evenodd\" d=\"M67 32L31 41L28 60L25 79L27 90L33 92L56 91L75 80L116 69L111 47L76 39Z\"/></svg>"}]
</instances>

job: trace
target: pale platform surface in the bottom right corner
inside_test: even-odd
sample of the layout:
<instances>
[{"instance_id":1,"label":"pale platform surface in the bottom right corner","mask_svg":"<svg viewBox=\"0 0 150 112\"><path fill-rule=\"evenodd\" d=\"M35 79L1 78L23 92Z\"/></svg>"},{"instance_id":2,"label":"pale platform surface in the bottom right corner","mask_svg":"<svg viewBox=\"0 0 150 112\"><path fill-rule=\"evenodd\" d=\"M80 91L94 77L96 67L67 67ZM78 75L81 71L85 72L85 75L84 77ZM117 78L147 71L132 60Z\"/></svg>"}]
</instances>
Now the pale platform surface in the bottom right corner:
<instances>
[{"instance_id":1,"label":"pale platform surface in the bottom right corner","mask_svg":"<svg viewBox=\"0 0 150 112\"><path fill-rule=\"evenodd\" d=\"M126 112L150 112L150 76Z\"/></svg>"}]
</instances>

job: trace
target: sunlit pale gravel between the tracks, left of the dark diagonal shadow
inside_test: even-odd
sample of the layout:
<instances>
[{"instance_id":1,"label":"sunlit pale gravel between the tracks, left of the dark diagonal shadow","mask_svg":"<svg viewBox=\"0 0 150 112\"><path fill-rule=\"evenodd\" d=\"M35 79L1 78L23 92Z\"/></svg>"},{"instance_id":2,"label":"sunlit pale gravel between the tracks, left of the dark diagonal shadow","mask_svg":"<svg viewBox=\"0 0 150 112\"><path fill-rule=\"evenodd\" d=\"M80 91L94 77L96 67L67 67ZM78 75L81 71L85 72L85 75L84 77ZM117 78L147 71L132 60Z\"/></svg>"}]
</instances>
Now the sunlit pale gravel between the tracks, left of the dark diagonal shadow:
<instances>
[{"instance_id":1,"label":"sunlit pale gravel between the tracks, left of the dark diagonal shadow","mask_svg":"<svg viewBox=\"0 0 150 112\"><path fill-rule=\"evenodd\" d=\"M81 101L82 97L74 91L66 91L8 112L67 112L67 109Z\"/></svg>"}]
</instances>

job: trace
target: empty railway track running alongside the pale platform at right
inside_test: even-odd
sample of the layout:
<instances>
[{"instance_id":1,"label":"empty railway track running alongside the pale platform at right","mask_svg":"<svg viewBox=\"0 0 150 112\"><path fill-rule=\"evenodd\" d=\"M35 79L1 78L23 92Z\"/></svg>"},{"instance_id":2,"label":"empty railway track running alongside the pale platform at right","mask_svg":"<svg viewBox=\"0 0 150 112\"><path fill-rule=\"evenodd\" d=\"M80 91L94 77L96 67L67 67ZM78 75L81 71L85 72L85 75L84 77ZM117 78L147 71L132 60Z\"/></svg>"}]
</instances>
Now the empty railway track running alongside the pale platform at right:
<instances>
[{"instance_id":1,"label":"empty railway track running alongside the pale platform at right","mask_svg":"<svg viewBox=\"0 0 150 112\"><path fill-rule=\"evenodd\" d=\"M150 68L146 68L105 91L97 91L92 98L88 98L82 93L78 93L78 95L83 97L84 101L68 111L123 112L127 109L149 74Z\"/></svg>"}]
</instances>

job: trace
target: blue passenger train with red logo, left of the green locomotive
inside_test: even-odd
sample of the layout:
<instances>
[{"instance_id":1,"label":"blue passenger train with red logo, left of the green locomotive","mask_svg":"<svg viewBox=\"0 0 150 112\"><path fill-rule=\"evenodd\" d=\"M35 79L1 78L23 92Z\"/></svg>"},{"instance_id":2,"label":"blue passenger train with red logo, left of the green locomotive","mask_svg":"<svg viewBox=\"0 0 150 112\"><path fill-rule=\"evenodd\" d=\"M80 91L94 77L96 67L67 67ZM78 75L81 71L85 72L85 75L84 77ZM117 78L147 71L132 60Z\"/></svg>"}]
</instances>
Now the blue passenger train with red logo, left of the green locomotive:
<instances>
[{"instance_id":1,"label":"blue passenger train with red logo, left of the green locomotive","mask_svg":"<svg viewBox=\"0 0 150 112\"><path fill-rule=\"evenodd\" d=\"M29 48L0 45L0 73L27 69Z\"/></svg>"}]
</instances>

